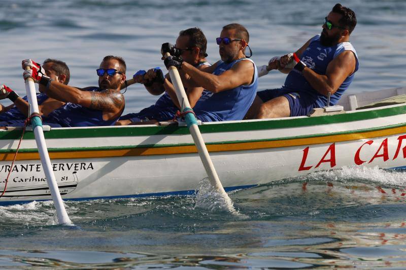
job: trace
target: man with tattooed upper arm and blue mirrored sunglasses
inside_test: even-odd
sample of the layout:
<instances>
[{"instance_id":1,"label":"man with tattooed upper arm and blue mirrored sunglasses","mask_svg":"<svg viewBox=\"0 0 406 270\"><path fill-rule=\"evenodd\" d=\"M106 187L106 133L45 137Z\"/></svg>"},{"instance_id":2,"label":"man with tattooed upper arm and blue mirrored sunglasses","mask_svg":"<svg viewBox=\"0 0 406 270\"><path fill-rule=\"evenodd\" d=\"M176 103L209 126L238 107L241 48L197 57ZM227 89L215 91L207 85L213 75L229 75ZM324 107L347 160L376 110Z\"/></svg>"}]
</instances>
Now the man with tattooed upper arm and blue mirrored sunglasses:
<instances>
[{"instance_id":1,"label":"man with tattooed upper arm and blue mirrored sunglasses","mask_svg":"<svg viewBox=\"0 0 406 270\"><path fill-rule=\"evenodd\" d=\"M29 65L25 65L29 66ZM23 62L23 68L25 68ZM35 66L23 73L45 86L47 96L66 102L43 118L44 124L61 127L111 126L124 110L124 96L120 93L125 82L126 65L121 57L106 56L96 70L98 87L76 88L60 84L45 76Z\"/></svg>"}]
</instances>

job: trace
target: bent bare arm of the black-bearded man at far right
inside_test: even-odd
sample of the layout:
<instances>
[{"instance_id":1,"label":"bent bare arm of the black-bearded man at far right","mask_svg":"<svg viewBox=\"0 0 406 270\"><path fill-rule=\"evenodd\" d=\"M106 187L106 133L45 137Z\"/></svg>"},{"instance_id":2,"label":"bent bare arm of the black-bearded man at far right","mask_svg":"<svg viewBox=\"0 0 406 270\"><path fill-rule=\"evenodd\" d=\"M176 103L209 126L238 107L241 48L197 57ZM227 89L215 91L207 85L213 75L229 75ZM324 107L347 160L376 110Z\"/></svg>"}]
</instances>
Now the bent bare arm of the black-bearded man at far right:
<instances>
[{"instance_id":1,"label":"bent bare arm of the black-bearded man at far right","mask_svg":"<svg viewBox=\"0 0 406 270\"><path fill-rule=\"evenodd\" d=\"M344 80L354 72L355 64L354 53L345 51L328 64L325 75L317 74L309 67L305 67L302 74L317 92L327 96L328 93L334 94Z\"/></svg>"}]
</instances>

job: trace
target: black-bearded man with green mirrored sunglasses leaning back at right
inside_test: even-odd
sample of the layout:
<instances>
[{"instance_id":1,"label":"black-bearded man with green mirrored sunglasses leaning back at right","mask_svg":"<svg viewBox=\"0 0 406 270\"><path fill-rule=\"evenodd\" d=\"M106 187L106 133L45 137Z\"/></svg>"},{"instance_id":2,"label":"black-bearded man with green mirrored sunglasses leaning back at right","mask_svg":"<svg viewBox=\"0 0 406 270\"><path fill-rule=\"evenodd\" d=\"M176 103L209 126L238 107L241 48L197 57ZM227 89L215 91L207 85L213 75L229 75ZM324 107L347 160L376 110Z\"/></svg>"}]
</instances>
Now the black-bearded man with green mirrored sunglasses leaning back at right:
<instances>
[{"instance_id":1,"label":"black-bearded man with green mirrored sunglasses leaning back at right","mask_svg":"<svg viewBox=\"0 0 406 270\"><path fill-rule=\"evenodd\" d=\"M258 92L246 118L294 117L335 105L358 70L357 53L349 42L356 23L351 9L336 4L324 19L321 34L294 54L271 59L268 70L288 73L285 85Z\"/></svg>"}]
</instances>

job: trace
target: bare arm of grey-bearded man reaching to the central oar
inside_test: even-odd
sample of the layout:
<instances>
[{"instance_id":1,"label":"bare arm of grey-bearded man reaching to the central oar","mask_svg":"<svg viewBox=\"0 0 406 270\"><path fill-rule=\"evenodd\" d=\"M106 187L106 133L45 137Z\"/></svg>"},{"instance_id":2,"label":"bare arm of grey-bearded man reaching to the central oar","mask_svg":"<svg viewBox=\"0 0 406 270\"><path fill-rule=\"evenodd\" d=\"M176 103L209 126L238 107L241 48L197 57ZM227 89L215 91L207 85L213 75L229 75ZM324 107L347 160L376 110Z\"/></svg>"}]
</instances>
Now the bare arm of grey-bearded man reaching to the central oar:
<instances>
[{"instance_id":1,"label":"bare arm of grey-bearded man reaching to the central oar","mask_svg":"<svg viewBox=\"0 0 406 270\"><path fill-rule=\"evenodd\" d=\"M213 93L233 89L241 85L248 85L253 80L254 65L248 60L235 63L230 69L220 75L207 73L212 69L214 68L209 67L205 71L201 71L186 62L182 64L182 70L189 74L197 85Z\"/></svg>"}]
</instances>

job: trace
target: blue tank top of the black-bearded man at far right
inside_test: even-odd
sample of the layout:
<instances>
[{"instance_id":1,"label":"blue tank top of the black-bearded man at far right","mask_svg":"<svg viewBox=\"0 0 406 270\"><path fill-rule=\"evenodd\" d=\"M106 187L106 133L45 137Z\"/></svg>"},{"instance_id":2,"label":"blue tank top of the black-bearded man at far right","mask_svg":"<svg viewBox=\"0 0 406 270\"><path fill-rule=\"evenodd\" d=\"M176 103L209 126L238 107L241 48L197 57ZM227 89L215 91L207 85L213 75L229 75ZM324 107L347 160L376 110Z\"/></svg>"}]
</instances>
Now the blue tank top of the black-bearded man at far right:
<instances>
[{"instance_id":1,"label":"blue tank top of the black-bearded man at far right","mask_svg":"<svg viewBox=\"0 0 406 270\"><path fill-rule=\"evenodd\" d=\"M352 80L354 79L354 74L358 70L358 56L354 47L349 42L339 43L331 47L322 46L320 44L320 34L318 34L311 39L309 47L303 52L300 58L300 60L306 63L306 65L313 71L324 75L326 73L328 64L335 57L345 51L352 51L354 53L356 60L355 70L344 80L339 89L337 89L337 91L331 95L330 105L335 105L339 101L344 91L346 91L350 86ZM300 92L305 92L311 95L319 107L327 105L327 97L313 89L302 73L296 69L292 69L289 72L288 76L286 77L285 85L282 88L291 90L293 92L298 92L299 94Z\"/></svg>"}]
</instances>

